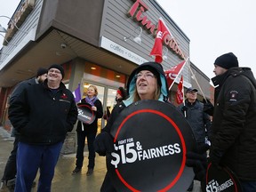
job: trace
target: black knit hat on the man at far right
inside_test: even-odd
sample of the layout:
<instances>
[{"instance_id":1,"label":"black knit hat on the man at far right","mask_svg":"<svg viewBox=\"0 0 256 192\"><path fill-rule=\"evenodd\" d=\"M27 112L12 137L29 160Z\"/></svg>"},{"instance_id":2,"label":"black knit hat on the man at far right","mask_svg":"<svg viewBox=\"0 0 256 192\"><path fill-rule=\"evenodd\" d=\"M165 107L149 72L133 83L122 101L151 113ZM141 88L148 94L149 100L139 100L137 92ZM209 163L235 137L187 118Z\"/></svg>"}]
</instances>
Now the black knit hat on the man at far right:
<instances>
[{"instance_id":1,"label":"black knit hat on the man at far right","mask_svg":"<svg viewBox=\"0 0 256 192\"><path fill-rule=\"evenodd\" d=\"M221 68L234 68L238 67L238 60L236 58L236 55L233 52L228 52L226 54L221 55L218 57L214 65L220 66Z\"/></svg>"}]
</instances>

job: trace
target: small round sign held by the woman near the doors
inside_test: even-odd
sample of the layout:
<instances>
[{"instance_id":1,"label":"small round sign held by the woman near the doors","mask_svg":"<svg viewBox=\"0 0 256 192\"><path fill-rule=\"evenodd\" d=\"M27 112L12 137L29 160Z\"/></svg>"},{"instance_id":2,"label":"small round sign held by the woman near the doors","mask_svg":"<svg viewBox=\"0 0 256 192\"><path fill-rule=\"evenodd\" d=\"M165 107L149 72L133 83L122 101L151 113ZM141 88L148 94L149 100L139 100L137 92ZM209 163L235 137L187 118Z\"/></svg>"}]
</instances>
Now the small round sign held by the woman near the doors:
<instances>
[{"instance_id":1,"label":"small round sign held by the woman near the doors","mask_svg":"<svg viewBox=\"0 0 256 192\"><path fill-rule=\"evenodd\" d=\"M84 124L92 124L95 120L94 111L92 111L92 105L89 103L77 103L78 116L77 119Z\"/></svg>"}]
</instances>

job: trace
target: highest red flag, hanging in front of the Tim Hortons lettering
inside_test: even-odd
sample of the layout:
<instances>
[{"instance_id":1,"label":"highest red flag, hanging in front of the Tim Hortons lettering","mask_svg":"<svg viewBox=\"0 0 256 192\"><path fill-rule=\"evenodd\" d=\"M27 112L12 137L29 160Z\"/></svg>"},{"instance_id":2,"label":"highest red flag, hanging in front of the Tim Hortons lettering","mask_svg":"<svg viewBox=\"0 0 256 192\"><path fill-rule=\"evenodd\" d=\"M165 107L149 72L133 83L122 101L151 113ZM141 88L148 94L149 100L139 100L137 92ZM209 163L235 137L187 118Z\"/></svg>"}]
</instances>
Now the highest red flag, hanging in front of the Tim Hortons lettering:
<instances>
[{"instance_id":1,"label":"highest red flag, hanging in front of the Tim Hortons lettering","mask_svg":"<svg viewBox=\"0 0 256 192\"><path fill-rule=\"evenodd\" d=\"M158 28L155 38L155 44L150 52L150 55L155 55L155 61L158 63L161 63L163 61L162 55L163 55L163 40L164 36L170 35L172 36L171 32L167 28L167 26L164 23L164 20L162 18L159 18L158 20Z\"/></svg>"}]
</instances>

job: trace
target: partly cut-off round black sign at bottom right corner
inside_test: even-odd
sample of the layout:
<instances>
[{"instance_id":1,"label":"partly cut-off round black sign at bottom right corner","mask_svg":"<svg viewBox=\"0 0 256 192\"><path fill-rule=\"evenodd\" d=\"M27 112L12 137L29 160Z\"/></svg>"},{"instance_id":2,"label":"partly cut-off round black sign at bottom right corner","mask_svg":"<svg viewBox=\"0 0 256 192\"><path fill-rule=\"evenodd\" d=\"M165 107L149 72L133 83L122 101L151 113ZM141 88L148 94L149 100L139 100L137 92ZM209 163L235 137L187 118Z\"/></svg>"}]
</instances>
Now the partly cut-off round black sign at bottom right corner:
<instances>
[{"instance_id":1,"label":"partly cut-off round black sign at bottom right corner","mask_svg":"<svg viewBox=\"0 0 256 192\"><path fill-rule=\"evenodd\" d=\"M236 174L228 167L216 167L208 164L206 173L206 192L242 192Z\"/></svg>"}]
</instances>

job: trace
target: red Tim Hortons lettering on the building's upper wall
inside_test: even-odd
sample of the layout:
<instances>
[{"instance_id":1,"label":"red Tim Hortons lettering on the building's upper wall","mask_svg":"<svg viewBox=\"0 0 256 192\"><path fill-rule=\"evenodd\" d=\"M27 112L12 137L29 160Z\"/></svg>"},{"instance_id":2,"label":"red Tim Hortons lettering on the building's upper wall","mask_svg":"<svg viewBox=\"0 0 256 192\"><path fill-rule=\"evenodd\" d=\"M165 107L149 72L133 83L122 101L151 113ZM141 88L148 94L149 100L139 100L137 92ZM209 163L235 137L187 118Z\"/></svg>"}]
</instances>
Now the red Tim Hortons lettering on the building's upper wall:
<instances>
[{"instance_id":1,"label":"red Tim Hortons lettering on the building's upper wall","mask_svg":"<svg viewBox=\"0 0 256 192\"><path fill-rule=\"evenodd\" d=\"M137 21L142 25L144 28L148 29L148 33L156 36L157 26L152 23L151 20L148 19L147 16L143 15L143 13L149 10L148 5L145 4L142 0L132 0L134 4L127 12L129 17L132 17L133 20ZM168 35L164 37L164 44L175 54L177 54L180 59L183 58L183 54L179 48L179 45L176 41L172 38L172 36Z\"/></svg>"}]
</instances>

